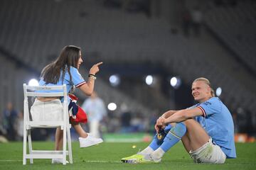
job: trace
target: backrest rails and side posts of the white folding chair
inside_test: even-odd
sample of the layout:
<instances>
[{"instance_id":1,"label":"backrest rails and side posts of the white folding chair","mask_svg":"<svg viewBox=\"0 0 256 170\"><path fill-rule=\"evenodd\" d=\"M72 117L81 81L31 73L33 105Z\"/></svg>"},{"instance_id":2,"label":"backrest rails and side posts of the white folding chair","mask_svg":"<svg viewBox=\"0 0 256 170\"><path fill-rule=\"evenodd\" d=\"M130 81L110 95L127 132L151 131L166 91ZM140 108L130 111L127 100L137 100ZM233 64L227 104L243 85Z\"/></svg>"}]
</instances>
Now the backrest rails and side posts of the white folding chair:
<instances>
[{"instance_id":1,"label":"backrest rails and side posts of the white folding chair","mask_svg":"<svg viewBox=\"0 0 256 170\"><path fill-rule=\"evenodd\" d=\"M24 90L24 121L29 120L28 97L63 97L63 119L68 122L68 93L66 84L62 86L29 86L23 84Z\"/></svg>"}]
</instances>

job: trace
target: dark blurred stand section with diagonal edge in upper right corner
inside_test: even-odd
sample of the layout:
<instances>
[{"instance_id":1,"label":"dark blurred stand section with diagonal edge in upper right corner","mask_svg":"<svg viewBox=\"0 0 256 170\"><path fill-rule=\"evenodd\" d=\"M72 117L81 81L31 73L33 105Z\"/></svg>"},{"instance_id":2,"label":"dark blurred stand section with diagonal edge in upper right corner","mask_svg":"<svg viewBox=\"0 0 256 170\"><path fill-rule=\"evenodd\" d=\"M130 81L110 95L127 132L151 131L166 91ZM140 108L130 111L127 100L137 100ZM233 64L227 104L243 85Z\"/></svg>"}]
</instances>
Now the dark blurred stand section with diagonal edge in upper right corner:
<instances>
[{"instance_id":1,"label":"dark blurred stand section with diagonal edge in upper right corner","mask_svg":"<svg viewBox=\"0 0 256 170\"><path fill-rule=\"evenodd\" d=\"M235 6L214 6L206 13L206 24L236 56L256 74L256 3L238 1Z\"/></svg>"}]
</instances>

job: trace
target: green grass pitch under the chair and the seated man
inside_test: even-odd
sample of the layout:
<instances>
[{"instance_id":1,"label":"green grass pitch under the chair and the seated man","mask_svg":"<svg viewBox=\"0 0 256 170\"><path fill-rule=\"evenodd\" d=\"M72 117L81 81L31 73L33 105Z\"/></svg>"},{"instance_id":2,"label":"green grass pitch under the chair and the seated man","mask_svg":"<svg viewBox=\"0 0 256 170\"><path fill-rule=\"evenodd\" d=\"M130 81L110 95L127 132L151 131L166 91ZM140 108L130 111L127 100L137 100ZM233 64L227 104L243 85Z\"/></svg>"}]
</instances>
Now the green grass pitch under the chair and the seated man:
<instances>
[{"instance_id":1,"label":"green grass pitch under the chair and the seated man","mask_svg":"<svg viewBox=\"0 0 256 170\"><path fill-rule=\"evenodd\" d=\"M228 159L225 164L194 164L181 142L164 155L157 164L124 164L122 157L130 156L149 145L146 142L112 143L79 148L78 142L73 142L73 164L51 164L50 159L34 159L34 163L22 165L22 142L0 143L0 169L256 169L256 143L237 143L237 159ZM135 147L136 146L136 147ZM133 148L135 147L135 148ZM53 142L34 142L34 149L53 148Z\"/></svg>"}]
</instances>

